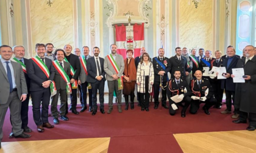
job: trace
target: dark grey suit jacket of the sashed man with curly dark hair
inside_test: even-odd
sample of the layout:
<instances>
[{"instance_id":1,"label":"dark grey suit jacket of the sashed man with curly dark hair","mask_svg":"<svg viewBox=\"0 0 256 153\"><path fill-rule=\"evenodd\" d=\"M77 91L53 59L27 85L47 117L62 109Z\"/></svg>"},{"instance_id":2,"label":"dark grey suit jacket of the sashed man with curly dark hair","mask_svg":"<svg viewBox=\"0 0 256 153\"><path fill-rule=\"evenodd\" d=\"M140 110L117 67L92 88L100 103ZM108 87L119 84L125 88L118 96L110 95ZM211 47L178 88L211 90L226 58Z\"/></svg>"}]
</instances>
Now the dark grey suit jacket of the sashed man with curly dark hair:
<instances>
[{"instance_id":1,"label":"dark grey suit jacket of the sashed man with curly dark hair","mask_svg":"<svg viewBox=\"0 0 256 153\"><path fill-rule=\"evenodd\" d=\"M71 69L70 64L65 61L63 61L63 64L64 64L64 71L66 72L67 75L70 75L70 69ZM55 82L56 90L66 89L66 81L63 80L62 76L60 75L57 69L55 69L54 82Z\"/></svg>"}]
</instances>

